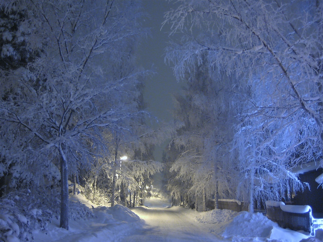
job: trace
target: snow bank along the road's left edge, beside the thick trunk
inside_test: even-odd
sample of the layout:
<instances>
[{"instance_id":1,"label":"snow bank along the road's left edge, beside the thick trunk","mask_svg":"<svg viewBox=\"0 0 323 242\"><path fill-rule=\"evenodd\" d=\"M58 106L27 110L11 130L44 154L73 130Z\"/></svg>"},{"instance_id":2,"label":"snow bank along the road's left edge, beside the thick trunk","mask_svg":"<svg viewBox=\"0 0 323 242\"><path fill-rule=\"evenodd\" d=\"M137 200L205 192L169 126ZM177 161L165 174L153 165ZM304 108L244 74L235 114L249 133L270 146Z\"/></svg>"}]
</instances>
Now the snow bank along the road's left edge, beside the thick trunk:
<instances>
[{"instance_id":1,"label":"snow bank along the road's left edge, beside the thick trunk","mask_svg":"<svg viewBox=\"0 0 323 242\"><path fill-rule=\"evenodd\" d=\"M140 229L144 222L122 205L91 209L94 217L69 220L69 230L59 227L59 216L47 229L34 231L35 242L116 242Z\"/></svg>"}]
</instances>

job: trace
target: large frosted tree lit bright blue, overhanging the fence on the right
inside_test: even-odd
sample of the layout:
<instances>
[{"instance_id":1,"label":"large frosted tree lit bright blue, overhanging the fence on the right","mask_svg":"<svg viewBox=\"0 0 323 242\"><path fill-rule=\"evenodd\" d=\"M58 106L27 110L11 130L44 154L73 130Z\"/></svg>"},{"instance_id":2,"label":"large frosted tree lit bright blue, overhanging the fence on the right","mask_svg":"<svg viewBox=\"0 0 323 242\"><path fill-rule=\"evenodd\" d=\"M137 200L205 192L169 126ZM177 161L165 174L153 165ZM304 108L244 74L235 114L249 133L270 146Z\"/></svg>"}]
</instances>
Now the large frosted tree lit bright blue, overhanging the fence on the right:
<instances>
[{"instance_id":1,"label":"large frosted tree lit bright blue, overhanging the fence on the right","mask_svg":"<svg viewBox=\"0 0 323 242\"><path fill-rule=\"evenodd\" d=\"M240 87L233 159L253 198L280 199L301 184L290 168L322 166L322 2L183 1L165 14L166 60L179 79L206 59ZM200 33L200 34L196 34ZM274 190L270 190L274 187ZM243 190L242 189L242 190Z\"/></svg>"}]
</instances>

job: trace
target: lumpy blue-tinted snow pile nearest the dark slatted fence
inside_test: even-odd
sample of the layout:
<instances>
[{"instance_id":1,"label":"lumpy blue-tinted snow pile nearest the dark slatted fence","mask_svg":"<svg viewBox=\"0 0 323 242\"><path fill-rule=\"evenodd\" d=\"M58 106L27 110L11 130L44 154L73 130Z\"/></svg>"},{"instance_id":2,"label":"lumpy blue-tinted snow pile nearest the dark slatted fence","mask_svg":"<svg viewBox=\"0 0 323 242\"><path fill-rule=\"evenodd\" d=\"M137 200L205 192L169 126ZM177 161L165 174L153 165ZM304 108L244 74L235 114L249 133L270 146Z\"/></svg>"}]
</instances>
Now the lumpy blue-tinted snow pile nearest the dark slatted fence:
<instances>
[{"instance_id":1,"label":"lumpy blue-tinted snow pile nearest the dark slatted fence","mask_svg":"<svg viewBox=\"0 0 323 242\"><path fill-rule=\"evenodd\" d=\"M223 238L233 240L236 237L268 237L278 227L261 213L239 212L232 222L224 229Z\"/></svg>"}]
</instances>

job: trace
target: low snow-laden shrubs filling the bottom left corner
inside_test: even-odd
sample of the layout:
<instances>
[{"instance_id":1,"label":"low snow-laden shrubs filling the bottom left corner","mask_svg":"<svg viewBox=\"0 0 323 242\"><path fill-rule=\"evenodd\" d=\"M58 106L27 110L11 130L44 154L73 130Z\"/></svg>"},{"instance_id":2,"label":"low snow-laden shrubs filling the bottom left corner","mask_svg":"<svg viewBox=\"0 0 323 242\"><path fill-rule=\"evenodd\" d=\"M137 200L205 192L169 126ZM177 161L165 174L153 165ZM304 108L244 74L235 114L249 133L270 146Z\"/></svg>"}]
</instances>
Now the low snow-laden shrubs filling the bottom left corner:
<instances>
[{"instance_id":1,"label":"low snow-laden shrubs filling the bottom left corner","mask_svg":"<svg viewBox=\"0 0 323 242\"><path fill-rule=\"evenodd\" d=\"M31 231L45 230L59 211L58 190L24 189L0 198L0 242L31 241Z\"/></svg>"}]
</instances>

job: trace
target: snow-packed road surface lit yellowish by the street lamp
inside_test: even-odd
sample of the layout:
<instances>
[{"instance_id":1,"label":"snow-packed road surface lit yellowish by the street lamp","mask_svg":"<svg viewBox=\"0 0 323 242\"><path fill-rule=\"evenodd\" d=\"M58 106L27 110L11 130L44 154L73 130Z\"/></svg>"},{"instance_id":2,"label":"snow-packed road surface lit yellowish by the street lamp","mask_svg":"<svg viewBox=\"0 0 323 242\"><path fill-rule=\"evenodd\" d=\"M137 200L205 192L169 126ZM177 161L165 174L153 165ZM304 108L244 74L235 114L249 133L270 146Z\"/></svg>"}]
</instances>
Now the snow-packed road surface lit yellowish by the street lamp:
<instances>
[{"instance_id":1,"label":"snow-packed road surface lit yellowish by the street lamp","mask_svg":"<svg viewBox=\"0 0 323 242\"><path fill-rule=\"evenodd\" d=\"M208 232L207 228L188 216L187 209L182 207L135 207L131 210L144 219L147 226L136 234L124 237L122 242L225 241Z\"/></svg>"}]
</instances>

